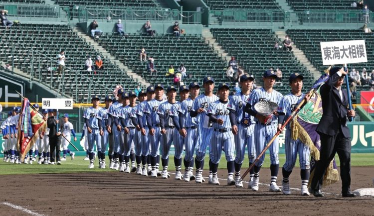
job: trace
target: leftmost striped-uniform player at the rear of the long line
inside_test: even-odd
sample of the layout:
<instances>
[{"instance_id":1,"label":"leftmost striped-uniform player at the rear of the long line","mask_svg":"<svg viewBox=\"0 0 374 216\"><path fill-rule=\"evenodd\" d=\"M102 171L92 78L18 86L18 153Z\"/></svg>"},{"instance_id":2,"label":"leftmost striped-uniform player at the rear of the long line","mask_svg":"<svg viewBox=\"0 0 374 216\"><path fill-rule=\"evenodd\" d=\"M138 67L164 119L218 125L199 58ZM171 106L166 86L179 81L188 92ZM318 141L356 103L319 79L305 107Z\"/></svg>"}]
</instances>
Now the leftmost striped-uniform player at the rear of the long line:
<instances>
[{"instance_id":1,"label":"leftmost striped-uniform player at the rear of the long line","mask_svg":"<svg viewBox=\"0 0 374 216\"><path fill-rule=\"evenodd\" d=\"M87 127L87 139L88 139L88 156L90 158L90 165L88 168L93 169L94 168L94 145L96 142L96 145L99 146L101 139L100 139L100 130L99 125L97 122L96 115L101 109L99 107L100 104L100 98L97 95L92 96L92 107L87 108L84 112L83 118L85 119L86 127Z\"/></svg>"}]
</instances>

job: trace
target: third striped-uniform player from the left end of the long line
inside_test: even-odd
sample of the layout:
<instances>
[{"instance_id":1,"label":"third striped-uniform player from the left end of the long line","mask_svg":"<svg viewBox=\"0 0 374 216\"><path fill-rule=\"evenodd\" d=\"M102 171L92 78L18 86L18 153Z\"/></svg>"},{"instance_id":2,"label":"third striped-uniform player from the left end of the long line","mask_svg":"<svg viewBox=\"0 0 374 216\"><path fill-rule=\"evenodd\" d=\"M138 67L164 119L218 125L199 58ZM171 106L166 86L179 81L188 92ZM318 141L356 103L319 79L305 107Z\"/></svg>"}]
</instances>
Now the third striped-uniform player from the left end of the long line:
<instances>
[{"instance_id":1,"label":"third striped-uniform player from the left end of the long line","mask_svg":"<svg viewBox=\"0 0 374 216\"><path fill-rule=\"evenodd\" d=\"M108 110L108 125L107 130L109 132L109 151L108 151L108 157L110 160L109 168L110 169L119 169L119 156L118 154L114 155L114 146L118 146L119 144L119 137L118 137L118 131L115 129L115 123L114 123L114 112L117 108L122 106L122 94L125 93L123 89L119 89L117 91L118 101L113 102L112 106L110 106ZM112 130L112 128L114 128Z\"/></svg>"}]
</instances>

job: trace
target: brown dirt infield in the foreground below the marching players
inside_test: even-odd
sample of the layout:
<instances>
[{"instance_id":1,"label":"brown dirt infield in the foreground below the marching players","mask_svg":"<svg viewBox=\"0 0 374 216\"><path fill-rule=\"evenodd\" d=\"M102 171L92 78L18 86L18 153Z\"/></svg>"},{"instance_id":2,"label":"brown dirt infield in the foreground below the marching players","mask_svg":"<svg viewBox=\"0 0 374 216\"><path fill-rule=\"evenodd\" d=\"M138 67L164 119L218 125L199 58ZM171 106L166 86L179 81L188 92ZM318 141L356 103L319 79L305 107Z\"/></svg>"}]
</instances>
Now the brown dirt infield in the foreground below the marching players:
<instances>
[{"instance_id":1,"label":"brown dirt infield in the foreground below the marching players","mask_svg":"<svg viewBox=\"0 0 374 216\"><path fill-rule=\"evenodd\" d=\"M290 182L300 188L300 170ZM352 189L372 188L374 167L353 167ZM204 171L206 176L208 171ZM323 189L325 198L289 196L226 186L227 173L219 170L220 186L124 173L40 174L1 176L1 202L11 203L42 215L373 215L373 197L342 198L341 182ZM281 180L278 175L278 185ZM260 183L270 181L262 169ZM0 214L28 215L0 204Z\"/></svg>"}]
</instances>

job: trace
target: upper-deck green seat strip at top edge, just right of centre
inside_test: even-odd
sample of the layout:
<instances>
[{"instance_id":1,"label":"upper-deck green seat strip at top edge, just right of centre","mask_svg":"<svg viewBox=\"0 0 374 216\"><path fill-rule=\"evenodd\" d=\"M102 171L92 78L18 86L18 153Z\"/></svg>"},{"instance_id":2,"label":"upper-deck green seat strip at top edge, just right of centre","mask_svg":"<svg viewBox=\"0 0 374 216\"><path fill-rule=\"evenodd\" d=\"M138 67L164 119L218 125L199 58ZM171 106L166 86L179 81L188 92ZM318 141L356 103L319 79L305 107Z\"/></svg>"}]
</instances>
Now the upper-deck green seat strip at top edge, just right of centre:
<instances>
[{"instance_id":1,"label":"upper-deck green seat strip at top edge, just right of centre","mask_svg":"<svg viewBox=\"0 0 374 216\"><path fill-rule=\"evenodd\" d=\"M275 0L203 0L212 10L281 9Z\"/></svg>"}]
</instances>

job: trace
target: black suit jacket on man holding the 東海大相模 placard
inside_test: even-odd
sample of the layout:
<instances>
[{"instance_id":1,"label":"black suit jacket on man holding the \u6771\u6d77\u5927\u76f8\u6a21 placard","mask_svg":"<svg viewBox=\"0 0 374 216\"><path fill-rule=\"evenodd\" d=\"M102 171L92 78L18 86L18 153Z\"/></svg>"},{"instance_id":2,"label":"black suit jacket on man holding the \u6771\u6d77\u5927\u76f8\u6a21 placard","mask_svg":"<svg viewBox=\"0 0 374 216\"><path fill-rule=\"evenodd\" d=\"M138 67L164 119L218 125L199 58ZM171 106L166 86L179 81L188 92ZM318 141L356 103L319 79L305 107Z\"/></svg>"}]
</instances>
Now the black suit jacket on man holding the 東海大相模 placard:
<instances>
[{"instance_id":1,"label":"black suit jacket on man holding the \u6771\u6d77\u5927\u76f8\u6a21 placard","mask_svg":"<svg viewBox=\"0 0 374 216\"><path fill-rule=\"evenodd\" d=\"M351 137L351 133L347 127L347 91L342 89L342 101L340 99L339 91L333 87L334 84L338 82L339 78L339 74L333 74L320 88L323 114L316 131L319 134L322 133L332 136L337 134L339 129L341 129L344 137Z\"/></svg>"}]
</instances>

